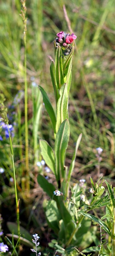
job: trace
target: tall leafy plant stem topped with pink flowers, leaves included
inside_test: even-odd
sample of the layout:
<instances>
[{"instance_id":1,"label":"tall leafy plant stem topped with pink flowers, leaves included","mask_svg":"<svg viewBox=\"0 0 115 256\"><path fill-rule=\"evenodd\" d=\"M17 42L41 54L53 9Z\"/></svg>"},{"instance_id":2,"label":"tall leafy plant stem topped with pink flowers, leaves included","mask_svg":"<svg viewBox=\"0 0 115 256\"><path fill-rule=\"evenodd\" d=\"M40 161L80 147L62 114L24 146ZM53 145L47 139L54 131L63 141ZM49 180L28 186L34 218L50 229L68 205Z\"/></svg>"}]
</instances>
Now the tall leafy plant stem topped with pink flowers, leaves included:
<instances>
[{"instance_id":1,"label":"tall leafy plant stem topped with pink flowers, leaves included","mask_svg":"<svg viewBox=\"0 0 115 256\"><path fill-rule=\"evenodd\" d=\"M39 86L44 105L53 124L55 145L53 150L46 141L40 140L40 148L46 164L55 174L58 188L61 188L61 191L65 193L68 171L68 167L65 166L65 157L69 141L68 96L71 85L72 57L76 36L68 33L64 35L63 31L58 33L57 36L58 38L54 40L55 61L52 61L50 66L56 114L47 93ZM72 159L68 183L74 168L76 151Z\"/></svg>"}]
</instances>

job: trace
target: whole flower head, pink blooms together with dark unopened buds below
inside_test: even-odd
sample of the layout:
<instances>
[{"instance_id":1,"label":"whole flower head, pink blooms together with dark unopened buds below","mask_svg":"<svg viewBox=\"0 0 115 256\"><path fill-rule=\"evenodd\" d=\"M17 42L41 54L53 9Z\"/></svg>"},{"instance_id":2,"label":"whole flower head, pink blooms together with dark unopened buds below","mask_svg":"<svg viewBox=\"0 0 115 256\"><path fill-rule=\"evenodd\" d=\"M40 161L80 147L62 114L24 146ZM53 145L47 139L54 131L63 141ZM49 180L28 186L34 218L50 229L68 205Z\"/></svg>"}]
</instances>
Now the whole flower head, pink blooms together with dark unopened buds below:
<instances>
[{"instance_id":1,"label":"whole flower head, pink blooms together with dark unopened buds below","mask_svg":"<svg viewBox=\"0 0 115 256\"><path fill-rule=\"evenodd\" d=\"M72 51L72 46L70 44L73 43L73 40L75 40L77 36L75 36L74 33L72 33L71 35L69 33L64 35L63 31L57 33L56 36L58 36L58 38L55 37L55 41L54 41L55 48L58 48L58 46L61 46L62 54L64 56L68 56L69 53Z\"/></svg>"}]
</instances>

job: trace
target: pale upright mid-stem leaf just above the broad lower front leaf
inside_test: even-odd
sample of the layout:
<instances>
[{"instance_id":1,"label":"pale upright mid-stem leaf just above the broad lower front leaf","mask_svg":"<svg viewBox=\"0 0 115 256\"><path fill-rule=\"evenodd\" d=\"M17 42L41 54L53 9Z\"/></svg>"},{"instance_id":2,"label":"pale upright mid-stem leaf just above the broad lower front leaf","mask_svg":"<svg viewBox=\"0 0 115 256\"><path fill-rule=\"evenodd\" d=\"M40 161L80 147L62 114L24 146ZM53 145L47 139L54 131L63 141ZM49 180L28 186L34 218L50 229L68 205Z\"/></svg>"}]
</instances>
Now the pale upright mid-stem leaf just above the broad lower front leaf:
<instances>
[{"instance_id":1,"label":"pale upright mid-stem leaf just above the broad lower front leaf","mask_svg":"<svg viewBox=\"0 0 115 256\"><path fill-rule=\"evenodd\" d=\"M67 118L67 112L68 112L67 84L63 84L61 86L59 93L60 93L60 98L57 102L56 132L58 131L60 124Z\"/></svg>"}]
</instances>

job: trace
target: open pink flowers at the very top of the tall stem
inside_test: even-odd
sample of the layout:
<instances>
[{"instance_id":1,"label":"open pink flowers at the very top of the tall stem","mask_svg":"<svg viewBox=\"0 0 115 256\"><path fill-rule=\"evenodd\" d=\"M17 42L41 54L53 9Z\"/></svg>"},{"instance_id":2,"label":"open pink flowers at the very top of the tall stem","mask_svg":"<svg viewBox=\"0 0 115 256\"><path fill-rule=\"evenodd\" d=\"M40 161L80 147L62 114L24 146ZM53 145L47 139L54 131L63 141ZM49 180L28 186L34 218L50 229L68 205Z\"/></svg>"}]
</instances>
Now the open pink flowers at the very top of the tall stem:
<instances>
[{"instance_id":1,"label":"open pink flowers at the very top of the tall stem","mask_svg":"<svg viewBox=\"0 0 115 256\"><path fill-rule=\"evenodd\" d=\"M58 36L59 43L63 43L63 46L66 46L67 44L71 44L73 40L77 38L77 36L75 36L74 33L72 33L71 35L68 33L64 35L63 31L57 33L56 36Z\"/></svg>"}]
</instances>

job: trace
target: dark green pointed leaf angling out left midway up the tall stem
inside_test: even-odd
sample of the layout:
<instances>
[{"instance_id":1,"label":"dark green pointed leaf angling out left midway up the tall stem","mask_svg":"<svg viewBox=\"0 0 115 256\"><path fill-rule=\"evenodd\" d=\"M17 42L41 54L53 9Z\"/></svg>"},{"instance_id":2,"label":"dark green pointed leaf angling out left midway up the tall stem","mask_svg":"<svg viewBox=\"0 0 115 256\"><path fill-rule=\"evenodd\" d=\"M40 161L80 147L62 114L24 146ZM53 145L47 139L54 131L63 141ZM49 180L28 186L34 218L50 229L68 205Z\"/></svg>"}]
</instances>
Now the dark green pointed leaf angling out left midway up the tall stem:
<instances>
[{"instance_id":1,"label":"dark green pointed leaf angling out left midway up the tall stem","mask_svg":"<svg viewBox=\"0 0 115 256\"><path fill-rule=\"evenodd\" d=\"M54 109L52 107L52 104L51 104L48 96L47 96L47 93L44 91L44 89L40 85L38 87L39 87L39 89L42 93L43 102L44 102L45 108L47 110L47 113L50 116L50 119L51 119L51 122L52 122L53 128L54 128L54 133L55 133L56 116L55 116L55 113L54 113Z\"/></svg>"}]
</instances>

